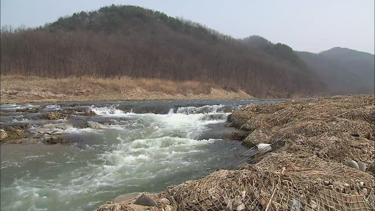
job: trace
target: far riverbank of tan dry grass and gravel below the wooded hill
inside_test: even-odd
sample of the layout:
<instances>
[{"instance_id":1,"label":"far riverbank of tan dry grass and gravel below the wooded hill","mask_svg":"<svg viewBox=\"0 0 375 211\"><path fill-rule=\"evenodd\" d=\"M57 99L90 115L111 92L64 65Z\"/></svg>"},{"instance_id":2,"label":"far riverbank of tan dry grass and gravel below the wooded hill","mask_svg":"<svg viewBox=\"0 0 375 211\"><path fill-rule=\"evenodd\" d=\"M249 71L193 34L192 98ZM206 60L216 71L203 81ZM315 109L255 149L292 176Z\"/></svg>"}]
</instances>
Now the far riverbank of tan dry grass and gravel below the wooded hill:
<instances>
[{"instance_id":1,"label":"far riverbank of tan dry grass and gravel below the wooded hill","mask_svg":"<svg viewBox=\"0 0 375 211\"><path fill-rule=\"evenodd\" d=\"M250 99L244 90L199 81L160 79L1 76L1 103L138 99Z\"/></svg>"}]
</instances>

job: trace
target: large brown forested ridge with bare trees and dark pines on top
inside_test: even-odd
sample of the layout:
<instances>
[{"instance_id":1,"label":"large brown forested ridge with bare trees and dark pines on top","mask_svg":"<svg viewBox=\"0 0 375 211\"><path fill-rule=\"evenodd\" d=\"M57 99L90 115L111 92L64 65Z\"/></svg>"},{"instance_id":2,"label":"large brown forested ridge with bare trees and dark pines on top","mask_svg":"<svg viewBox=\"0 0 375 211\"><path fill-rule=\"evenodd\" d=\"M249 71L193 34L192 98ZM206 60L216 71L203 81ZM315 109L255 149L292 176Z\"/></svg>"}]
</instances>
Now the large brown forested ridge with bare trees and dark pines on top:
<instances>
[{"instance_id":1,"label":"large brown forested ridge with bare trees and dark pines on top","mask_svg":"<svg viewBox=\"0 0 375 211\"><path fill-rule=\"evenodd\" d=\"M329 95L327 81L285 44L234 39L138 6L79 12L34 29L3 26L1 74L128 75L242 87L255 96Z\"/></svg>"}]
</instances>

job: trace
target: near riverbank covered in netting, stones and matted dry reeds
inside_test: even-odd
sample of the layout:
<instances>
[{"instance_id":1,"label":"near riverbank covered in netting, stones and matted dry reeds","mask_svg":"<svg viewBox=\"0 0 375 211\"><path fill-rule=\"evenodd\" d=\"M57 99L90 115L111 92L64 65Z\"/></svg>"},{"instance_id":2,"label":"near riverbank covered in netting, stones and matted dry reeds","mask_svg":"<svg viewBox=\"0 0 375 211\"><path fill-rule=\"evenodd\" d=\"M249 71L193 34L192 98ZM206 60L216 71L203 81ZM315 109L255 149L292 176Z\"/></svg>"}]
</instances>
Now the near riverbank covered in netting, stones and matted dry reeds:
<instances>
[{"instance_id":1,"label":"near riverbank covered in netting, stones and matted dry reeds","mask_svg":"<svg viewBox=\"0 0 375 211\"><path fill-rule=\"evenodd\" d=\"M350 95L246 106L229 126L248 131L244 145L266 148L239 170L109 200L97 210L374 210L374 105L375 96ZM144 195L157 205L134 205Z\"/></svg>"}]
</instances>

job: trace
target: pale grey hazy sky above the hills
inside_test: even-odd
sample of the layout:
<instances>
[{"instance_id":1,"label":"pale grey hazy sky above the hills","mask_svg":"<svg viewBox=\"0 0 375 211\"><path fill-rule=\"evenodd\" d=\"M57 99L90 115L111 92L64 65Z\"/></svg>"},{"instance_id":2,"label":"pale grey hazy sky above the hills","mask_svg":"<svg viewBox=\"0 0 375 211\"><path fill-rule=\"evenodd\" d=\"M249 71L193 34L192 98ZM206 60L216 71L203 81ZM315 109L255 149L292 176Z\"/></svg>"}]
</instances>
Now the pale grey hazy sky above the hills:
<instances>
[{"instance_id":1,"label":"pale grey hazy sky above the hills","mask_svg":"<svg viewBox=\"0 0 375 211\"><path fill-rule=\"evenodd\" d=\"M34 27L74 12L139 5L205 24L235 38L260 35L294 50L346 47L374 54L374 0L1 0L0 24Z\"/></svg>"}]
</instances>

